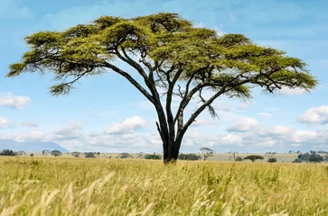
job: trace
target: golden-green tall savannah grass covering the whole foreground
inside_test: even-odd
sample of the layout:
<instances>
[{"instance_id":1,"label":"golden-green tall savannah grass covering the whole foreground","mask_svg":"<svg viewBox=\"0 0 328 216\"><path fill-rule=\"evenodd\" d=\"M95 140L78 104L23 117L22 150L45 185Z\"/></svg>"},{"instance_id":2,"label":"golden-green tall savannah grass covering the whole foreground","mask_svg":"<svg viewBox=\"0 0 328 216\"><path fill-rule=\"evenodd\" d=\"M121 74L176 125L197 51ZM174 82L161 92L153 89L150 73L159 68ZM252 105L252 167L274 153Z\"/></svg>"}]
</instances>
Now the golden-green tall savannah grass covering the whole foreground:
<instances>
[{"instance_id":1,"label":"golden-green tall savannah grass covering the whole foreground","mask_svg":"<svg viewBox=\"0 0 328 216\"><path fill-rule=\"evenodd\" d=\"M328 215L328 167L0 157L0 215Z\"/></svg>"}]
</instances>

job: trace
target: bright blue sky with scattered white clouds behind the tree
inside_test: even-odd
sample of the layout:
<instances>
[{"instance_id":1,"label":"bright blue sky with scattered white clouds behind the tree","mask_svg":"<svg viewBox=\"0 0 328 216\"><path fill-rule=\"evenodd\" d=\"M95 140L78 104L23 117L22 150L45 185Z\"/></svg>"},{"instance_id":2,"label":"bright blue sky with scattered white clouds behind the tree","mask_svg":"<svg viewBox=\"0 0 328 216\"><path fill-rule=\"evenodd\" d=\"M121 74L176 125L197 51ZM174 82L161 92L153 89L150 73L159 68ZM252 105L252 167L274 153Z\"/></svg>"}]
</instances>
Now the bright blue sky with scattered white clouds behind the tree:
<instances>
[{"instance_id":1,"label":"bright blue sky with scattered white clouds behind the tree","mask_svg":"<svg viewBox=\"0 0 328 216\"><path fill-rule=\"evenodd\" d=\"M220 98L220 120L201 114L183 140L183 152L284 152L328 148L328 9L325 1L2 0L0 9L0 139L54 141L64 148L101 152L161 152L155 111L114 73L80 81L67 96L53 97L53 76L5 78L8 65L35 31L62 31L101 15L135 17L179 13L220 34L243 33L255 43L302 58L320 85L311 94L283 89L253 91L246 103ZM133 71L130 71L134 74ZM192 103L190 110L197 103Z\"/></svg>"}]
</instances>

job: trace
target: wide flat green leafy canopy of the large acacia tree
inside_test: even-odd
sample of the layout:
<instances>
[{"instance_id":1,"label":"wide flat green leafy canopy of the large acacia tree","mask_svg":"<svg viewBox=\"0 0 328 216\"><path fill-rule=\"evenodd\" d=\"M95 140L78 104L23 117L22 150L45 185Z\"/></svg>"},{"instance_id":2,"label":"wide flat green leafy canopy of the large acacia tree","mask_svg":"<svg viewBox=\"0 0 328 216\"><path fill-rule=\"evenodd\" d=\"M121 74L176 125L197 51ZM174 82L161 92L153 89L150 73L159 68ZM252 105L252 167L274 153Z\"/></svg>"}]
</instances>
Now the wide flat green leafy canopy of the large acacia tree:
<instances>
[{"instance_id":1,"label":"wide flat green leafy canopy of the large acacia tree","mask_svg":"<svg viewBox=\"0 0 328 216\"><path fill-rule=\"evenodd\" d=\"M98 75L105 72L108 62L119 57L121 50L140 54L143 59L146 56L153 63L166 60L168 66L183 69L182 79L199 71L195 79L208 79L213 89L232 79L237 84L243 83L244 77L253 77L231 87L227 94L232 97L249 97L247 83L262 86L267 92L282 85L311 90L317 84L301 59L286 57L278 49L259 47L242 34L218 36L216 31L192 26L178 14L133 19L101 16L93 23L78 24L66 31L39 31L25 41L31 50L23 55L22 62L10 66L7 76L43 69L52 70L58 80ZM231 69L243 76L236 80ZM73 83L53 85L52 94L69 93Z\"/></svg>"}]
</instances>

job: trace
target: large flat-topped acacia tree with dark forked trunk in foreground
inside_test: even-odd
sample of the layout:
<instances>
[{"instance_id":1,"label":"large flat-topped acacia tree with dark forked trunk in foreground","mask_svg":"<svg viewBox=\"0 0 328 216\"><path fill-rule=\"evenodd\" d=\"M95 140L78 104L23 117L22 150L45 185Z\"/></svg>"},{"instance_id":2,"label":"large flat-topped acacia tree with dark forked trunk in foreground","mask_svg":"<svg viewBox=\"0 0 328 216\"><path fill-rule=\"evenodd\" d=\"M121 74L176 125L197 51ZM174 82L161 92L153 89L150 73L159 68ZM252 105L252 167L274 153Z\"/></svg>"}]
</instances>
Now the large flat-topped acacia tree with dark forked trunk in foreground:
<instances>
[{"instance_id":1,"label":"large flat-topped acacia tree with dark forked trunk in foreground","mask_svg":"<svg viewBox=\"0 0 328 216\"><path fill-rule=\"evenodd\" d=\"M260 47L241 34L219 36L178 14L101 16L66 31L36 32L25 41L31 49L10 66L7 76L51 71L60 81L52 85L53 95L70 93L84 76L115 72L125 77L155 107L165 163L176 160L183 135L201 112L209 109L216 116L211 103L218 97L248 99L254 86L273 93L282 87L309 91L317 84L301 59ZM142 81L119 67L119 61ZM205 97L204 92L211 96ZM180 98L174 111L173 97ZM195 97L201 104L187 115L186 107Z\"/></svg>"}]
</instances>

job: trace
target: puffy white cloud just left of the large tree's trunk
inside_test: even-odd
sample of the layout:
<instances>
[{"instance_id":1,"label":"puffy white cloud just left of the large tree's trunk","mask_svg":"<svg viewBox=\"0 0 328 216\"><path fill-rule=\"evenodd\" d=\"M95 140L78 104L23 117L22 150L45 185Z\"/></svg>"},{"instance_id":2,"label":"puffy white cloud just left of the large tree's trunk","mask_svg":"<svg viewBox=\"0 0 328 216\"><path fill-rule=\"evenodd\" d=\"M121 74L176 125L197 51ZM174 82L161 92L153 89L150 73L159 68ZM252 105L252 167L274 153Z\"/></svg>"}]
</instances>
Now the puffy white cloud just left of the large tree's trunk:
<instances>
[{"instance_id":1,"label":"puffy white cloud just left of the large tree's trunk","mask_svg":"<svg viewBox=\"0 0 328 216\"><path fill-rule=\"evenodd\" d=\"M114 123L105 130L106 134L131 134L135 133L136 129L145 127L145 120L138 116L126 119L122 122Z\"/></svg>"}]
</instances>

